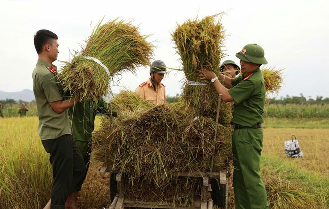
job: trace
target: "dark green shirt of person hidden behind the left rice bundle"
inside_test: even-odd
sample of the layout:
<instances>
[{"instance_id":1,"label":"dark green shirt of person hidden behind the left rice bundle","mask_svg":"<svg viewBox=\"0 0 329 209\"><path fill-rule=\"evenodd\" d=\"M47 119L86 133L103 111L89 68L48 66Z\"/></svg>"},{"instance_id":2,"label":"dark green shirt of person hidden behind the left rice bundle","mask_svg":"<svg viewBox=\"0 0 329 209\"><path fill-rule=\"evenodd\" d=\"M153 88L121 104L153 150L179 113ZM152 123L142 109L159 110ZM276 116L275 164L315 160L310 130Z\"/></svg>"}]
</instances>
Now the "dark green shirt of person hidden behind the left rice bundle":
<instances>
[{"instance_id":1,"label":"dark green shirt of person hidden behind the left rice bundle","mask_svg":"<svg viewBox=\"0 0 329 209\"><path fill-rule=\"evenodd\" d=\"M91 133L95 127L96 111L109 114L108 105L103 98L97 102L92 100L78 102L69 108L74 140L90 141Z\"/></svg>"}]
</instances>

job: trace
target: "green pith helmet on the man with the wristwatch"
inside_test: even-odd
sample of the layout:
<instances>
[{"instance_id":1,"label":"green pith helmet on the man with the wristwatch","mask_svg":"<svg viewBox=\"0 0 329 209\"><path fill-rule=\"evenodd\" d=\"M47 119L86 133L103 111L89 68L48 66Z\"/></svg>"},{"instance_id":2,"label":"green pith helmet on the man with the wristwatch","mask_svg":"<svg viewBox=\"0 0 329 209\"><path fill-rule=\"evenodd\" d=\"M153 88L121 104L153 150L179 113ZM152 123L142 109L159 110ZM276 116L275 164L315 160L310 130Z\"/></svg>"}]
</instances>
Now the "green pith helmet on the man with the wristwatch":
<instances>
[{"instance_id":1,"label":"green pith helmet on the man with the wristwatch","mask_svg":"<svg viewBox=\"0 0 329 209\"><path fill-rule=\"evenodd\" d=\"M267 60L264 57L264 49L257 44L245 45L235 56L245 62L267 64Z\"/></svg>"}]
</instances>

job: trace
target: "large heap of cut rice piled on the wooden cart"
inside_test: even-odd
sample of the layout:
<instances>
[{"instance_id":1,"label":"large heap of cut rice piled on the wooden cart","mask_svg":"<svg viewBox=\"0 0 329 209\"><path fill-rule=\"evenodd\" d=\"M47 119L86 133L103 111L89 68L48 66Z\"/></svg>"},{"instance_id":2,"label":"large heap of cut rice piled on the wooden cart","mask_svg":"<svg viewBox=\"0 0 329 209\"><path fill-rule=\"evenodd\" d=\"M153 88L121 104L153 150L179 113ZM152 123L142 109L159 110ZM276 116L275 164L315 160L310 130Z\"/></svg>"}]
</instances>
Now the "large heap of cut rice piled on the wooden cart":
<instances>
[{"instance_id":1,"label":"large heap of cut rice piled on the wooden cart","mask_svg":"<svg viewBox=\"0 0 329 209\"><path fill-rule=\"evenodd\" d=\"M132 98L123 95L134 93L121 92L120 99L113 101L132 103ZM192 204L199 197L201 180L177 177L177 172L209 171L214 150L217 158L223 155L225 159L218 163L220 167L214 166L214 171L228 167L230 129L219 125L214 139L216 124L212 118L194 119L193 112L182 111L183 105L139 105L124 117L103 120L94 134L93 157L127 174L125 195L131 199Z\"/></svg>"}]
</instances>

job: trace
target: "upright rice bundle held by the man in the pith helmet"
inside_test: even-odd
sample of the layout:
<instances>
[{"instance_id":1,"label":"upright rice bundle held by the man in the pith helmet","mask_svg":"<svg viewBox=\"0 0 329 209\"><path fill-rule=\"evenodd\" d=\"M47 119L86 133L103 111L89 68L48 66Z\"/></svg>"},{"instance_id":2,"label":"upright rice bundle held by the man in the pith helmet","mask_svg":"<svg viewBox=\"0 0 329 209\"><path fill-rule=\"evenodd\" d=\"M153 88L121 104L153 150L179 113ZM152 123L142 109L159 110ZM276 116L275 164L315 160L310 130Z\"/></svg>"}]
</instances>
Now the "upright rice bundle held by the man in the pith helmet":
<instances>
[{"instance_id":1,"label":"upright rice bundle held by the man in the pith helmet","mask_svg":"<svg viewBox=\"0 0 329 209\"><path fill-rule=\"evenodd\" d=\"M199 78L202 68L213 70L217 75L220 71L220 59L223 57L221 46L224 30L219 15L207 16L202 20L187 20L178 25L172 34L180 55L183 70L188 81L204 82ZM182 99L188 107L201 114L213 114L217 106L217 93L213 85L184 84Z\"/></svg>"}]
</instances>

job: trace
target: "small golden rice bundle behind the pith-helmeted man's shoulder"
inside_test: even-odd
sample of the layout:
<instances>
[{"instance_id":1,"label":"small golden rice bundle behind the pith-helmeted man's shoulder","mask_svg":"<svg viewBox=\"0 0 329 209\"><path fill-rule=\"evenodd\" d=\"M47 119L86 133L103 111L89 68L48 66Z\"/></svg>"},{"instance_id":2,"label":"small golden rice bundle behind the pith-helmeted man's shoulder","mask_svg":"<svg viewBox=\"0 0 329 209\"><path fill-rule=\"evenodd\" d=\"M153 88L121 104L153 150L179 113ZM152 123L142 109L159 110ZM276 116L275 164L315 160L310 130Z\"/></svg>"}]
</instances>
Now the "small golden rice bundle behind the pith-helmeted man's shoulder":
<instances>
[{"instance_id":1,"label":"small golden rice bundle behind the pith-helmeted man's shoulder","mask_svg":"<svg viewBox=\"0 0 329 209\"><path fill-rule=\"evenodd\" d=\"M267 94L278 94L283 81L282 71L284 69L262 68L265 91Z\"/></svg>"}]
</instances>

